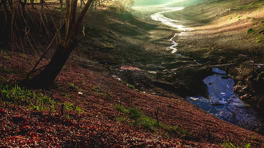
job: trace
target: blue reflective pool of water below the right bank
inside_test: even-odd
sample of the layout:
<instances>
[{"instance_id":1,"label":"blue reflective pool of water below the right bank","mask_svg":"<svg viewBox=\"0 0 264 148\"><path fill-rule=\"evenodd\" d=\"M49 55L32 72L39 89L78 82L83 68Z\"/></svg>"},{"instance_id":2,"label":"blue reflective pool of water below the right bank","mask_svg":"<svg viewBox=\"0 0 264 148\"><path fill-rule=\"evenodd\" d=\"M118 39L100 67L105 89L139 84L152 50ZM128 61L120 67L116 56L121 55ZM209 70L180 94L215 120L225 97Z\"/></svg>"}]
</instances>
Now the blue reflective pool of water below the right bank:
<instances>
[{"instance_id":1,"label":"blue reflective pool of water below the right bank","mask_svg":"<svg viewBox=\"0 0 264 148\"><path fill-rule=\"evenodd\" d=\"M239 127L261 132L264 120L248 104L233 93L234 81L224 71L213 68L215 74L203 81L208 86L209 98L187 97L192 104L212 115Z\"/></svg>"}]
</instances>

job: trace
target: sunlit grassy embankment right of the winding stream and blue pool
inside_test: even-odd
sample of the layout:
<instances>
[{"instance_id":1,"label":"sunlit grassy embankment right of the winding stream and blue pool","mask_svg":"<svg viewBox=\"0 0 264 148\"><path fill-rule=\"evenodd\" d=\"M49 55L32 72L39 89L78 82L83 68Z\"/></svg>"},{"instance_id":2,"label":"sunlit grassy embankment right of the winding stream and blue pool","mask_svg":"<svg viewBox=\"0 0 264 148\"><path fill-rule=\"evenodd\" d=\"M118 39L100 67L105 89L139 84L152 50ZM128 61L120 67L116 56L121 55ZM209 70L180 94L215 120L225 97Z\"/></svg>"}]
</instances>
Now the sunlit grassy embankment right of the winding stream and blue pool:
<instances>
[{"instance_id":1,"label":"sunlit grassy embankment right of the winding stream and blue pool","mask_svg":"<svg viewBox=\"0 0 264 148\"><path fill-rule=\"evenodd\" d=\"M234 91L259 111L264 110L263 2L207 0L166 14L195 29L178 37L178 53L204 66L235 64L223 67L236 82Z\"/></svg>"}]
</instances>

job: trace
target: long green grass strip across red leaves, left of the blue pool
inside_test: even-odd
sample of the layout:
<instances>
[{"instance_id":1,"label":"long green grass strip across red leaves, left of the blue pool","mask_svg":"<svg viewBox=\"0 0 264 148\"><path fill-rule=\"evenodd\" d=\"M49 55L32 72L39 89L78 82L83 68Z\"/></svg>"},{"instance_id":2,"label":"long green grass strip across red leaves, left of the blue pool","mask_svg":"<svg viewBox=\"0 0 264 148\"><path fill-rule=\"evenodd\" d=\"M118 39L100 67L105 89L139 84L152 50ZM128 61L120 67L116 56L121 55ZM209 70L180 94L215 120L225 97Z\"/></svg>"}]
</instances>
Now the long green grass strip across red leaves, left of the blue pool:
<instances>
[{"instance_id":1,"label":"long green grass strip across red leaves, left of the blue pool","mask_svg":"<svg viewBox=\"0 0 264 148\"><path fill-rule=\"evenodd\" d=\"M178 127L178 126L168 126L163 123L158 123L157 120L146 116L143 112L136 108L125 108L122 105L115 105L114 108L118 111L125 113L128 117L116 117L115 120L119 122L129 122L132 126L142 126L143 128L150 131L159 131L164 135L173 134L174 136L190 136L191 133ZM162 132L165 131L166 133Z\"/></svg>"}]
</instances>

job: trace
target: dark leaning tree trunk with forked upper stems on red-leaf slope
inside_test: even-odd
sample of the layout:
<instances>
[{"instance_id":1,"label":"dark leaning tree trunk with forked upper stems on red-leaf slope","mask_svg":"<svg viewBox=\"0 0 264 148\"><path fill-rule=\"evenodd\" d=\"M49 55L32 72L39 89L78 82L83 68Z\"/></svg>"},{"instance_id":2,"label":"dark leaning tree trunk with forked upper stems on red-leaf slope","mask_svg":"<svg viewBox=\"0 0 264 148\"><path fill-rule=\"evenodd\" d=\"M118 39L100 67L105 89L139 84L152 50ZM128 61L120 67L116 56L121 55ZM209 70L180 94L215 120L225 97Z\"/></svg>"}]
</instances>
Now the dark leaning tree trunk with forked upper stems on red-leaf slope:
<instances>
[{"instance_id":1,"label":"dark leaning tree trunk with forked upper stems on red-leaf slope","mask_svg":"<svg viewBox=\"0 0 264 148\"><path fill-rule=\"evenodd\" d=\"M72 50L77 46L77 35L82 24L85 13L89 9L93 0L88 0L85 4L80 16L76 20L76 7L77 0L72 0L71 3L67 2L68 15L66 17L65 38L60 42L56 51L53 54L52 60L46 68L35 77L35 83L42 87L49 87L53 83L56 76L59 74L61 68L64 66ZM68 7L69 5L69 7ZM76 20L76 21L75 21Z\"/></svg>"}]
</instances>

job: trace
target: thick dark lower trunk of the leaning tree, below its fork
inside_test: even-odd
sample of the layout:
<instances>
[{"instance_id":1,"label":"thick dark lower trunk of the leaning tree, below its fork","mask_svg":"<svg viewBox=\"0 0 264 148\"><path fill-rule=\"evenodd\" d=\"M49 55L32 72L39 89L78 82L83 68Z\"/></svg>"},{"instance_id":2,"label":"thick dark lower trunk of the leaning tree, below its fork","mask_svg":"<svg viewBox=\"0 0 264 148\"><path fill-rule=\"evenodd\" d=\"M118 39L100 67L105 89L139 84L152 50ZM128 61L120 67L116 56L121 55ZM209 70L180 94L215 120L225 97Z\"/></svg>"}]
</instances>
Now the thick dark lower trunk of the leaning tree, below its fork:
<instances>
[{"instance_id":1,"label":"thick dark lower trunk of the leaning tree, below its fork","mask_svg":"<svg viewBox=\"0 0 264 148\"><path fill-rule=\"evenodd\" d=\"M49 87L59 74L76 45L77 40L72 41L68 47L63 47L62 44L57 45L50 63L37 77L35 77L35 83L38 83L40 87Z\"/></svg>"}]
</instances>

